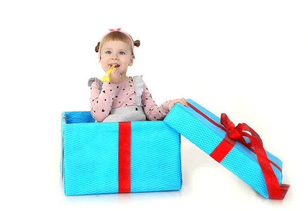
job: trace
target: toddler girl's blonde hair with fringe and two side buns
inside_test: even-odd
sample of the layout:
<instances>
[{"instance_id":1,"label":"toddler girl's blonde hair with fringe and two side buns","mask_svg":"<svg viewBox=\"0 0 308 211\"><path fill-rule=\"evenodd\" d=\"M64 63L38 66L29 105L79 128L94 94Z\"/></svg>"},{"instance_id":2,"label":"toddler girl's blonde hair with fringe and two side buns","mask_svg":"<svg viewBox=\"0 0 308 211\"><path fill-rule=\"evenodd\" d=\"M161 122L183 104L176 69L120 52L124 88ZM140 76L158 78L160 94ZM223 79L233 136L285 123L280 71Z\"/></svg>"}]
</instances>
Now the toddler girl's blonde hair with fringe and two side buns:
<instances>
[{"instance_id":1,"label":"toddler girl's blonde hair with fringe and two side buns","mask_svg":"<svg viewBox=\"0 0 308 211\"><path fill-rule=\"evenodd\" d=\"M130 38L132 39L131 36L130 36ZM98 45L95 47L95 52L99 52L99 50L101 50L103 44L106 43L107 41L123 41L124 43L131 45L131 41L126 34L119 32L119 31L114 31L114 32L110 32L109 34L107 34L103 38L102 43L101 42L98 43ZM139 47L140 46L140 40L133 41L133 45L136 46L136 47ZM131 52L132 52L132 49L131 49ZM133 56L133 57L135 58L135 56Z\"/></svg>"}]
</instances>

